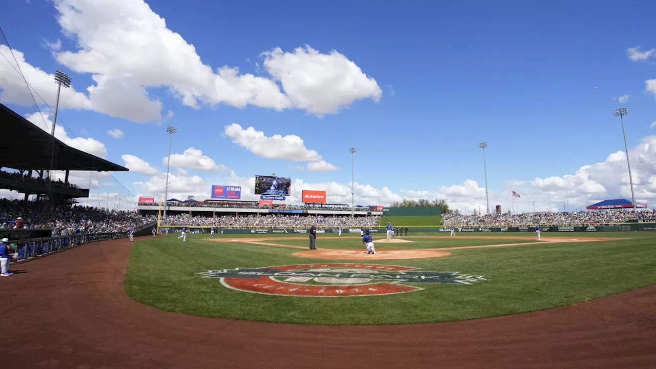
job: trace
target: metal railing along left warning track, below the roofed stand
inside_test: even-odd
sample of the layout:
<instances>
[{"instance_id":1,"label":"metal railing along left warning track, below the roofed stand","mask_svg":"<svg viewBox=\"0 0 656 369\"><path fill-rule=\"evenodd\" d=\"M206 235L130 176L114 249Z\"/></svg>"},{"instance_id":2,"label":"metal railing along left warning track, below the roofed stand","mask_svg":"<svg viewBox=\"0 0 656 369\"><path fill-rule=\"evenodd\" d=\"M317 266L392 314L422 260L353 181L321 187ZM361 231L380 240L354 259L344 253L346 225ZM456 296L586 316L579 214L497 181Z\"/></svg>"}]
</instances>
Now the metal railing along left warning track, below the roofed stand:
<instances>
[{"instance_id":1,"label":"metal railing along left warning track, below the roofed stand","mask_svg":"<svg viewBox=\"0 0 656 369\"><path fill-rule=\"evenodd\" d=\"M76 233L68 236L56 236L45 238L29 238L26 240L10 241L16 244L16 255L18 260L12 260L12 263L22 263L30 261L36 257L50 255L59 251L68 250L77 246L88 244L89 242L117 240L126 238L127 232L113 233Z\"/></svg>"}]
</instances>

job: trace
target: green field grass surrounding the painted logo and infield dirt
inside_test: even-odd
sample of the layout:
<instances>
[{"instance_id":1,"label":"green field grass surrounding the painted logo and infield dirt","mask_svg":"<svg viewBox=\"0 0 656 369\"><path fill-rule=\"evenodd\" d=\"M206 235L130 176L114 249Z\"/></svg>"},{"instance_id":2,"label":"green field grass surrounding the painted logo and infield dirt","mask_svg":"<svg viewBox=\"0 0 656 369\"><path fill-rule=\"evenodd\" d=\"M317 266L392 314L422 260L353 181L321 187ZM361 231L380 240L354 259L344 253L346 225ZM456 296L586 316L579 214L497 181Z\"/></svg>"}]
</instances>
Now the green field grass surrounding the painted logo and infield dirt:
<instances>
[{"instance_id":1,"label":"green field grass surrounding the painted logo and infield dirt","mask_svg":"<svg viewBox=\"0 0 656 369\"><path fill-rule=\"evenodd\" d=\"M436 234L430 234L436 235ZM525 233L475 234L493 240L408 238L415 244L380 244L377 248L441 248L514 243L504 237ZM285 234L281 236L292 236ZM304 235L298 235L304 237ZM207 234L144 238L134 243L125 292L158 309L199 316L215 316L298 324L398 324L442 322L510 315L570 305L613 293L656 284L656 235L637 232L550 234L543 237L620 237L604 242L541 243L451 250L448 257L372 261L383 265L417 267L424 271L454 271L482 275L486 280L470 285L424 284L425 290L372 297L284 297L240 292L218 279L196 273L236 267L270 267L326 263L295 257L293 248L214 242ZM272 235L217 235L217 238L258 238L291 244L304 240L276 240ZM342 236L344 238L344 236ZM358 238L318 238L319 248L361 248ZM413 245L413 246L409 246ZM329 261L337 263L339 261ZM344 263L353 263L345 260Z\"/></svg>"}]
</instances>

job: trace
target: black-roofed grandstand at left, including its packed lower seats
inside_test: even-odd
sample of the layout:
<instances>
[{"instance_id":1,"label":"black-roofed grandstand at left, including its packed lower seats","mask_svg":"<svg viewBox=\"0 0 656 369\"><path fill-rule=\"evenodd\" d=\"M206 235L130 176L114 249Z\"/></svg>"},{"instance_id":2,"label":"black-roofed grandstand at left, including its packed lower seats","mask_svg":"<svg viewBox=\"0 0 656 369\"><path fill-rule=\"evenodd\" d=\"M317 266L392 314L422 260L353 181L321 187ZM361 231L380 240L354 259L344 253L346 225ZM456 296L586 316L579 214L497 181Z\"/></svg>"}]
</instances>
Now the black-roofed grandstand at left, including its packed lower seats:
<instances>
[{"instance_id":1,"label":"black-roofed grandstand at left, including its packed lower seats","mask_svg":"<svg viewBox=\"0 0 656 369\"><path fill-rule=\"evenodd\" d=\"M89 188L68 182L71 171L127 171L64 142L0 104L0 188L24 194L22 200L0 200L0 234L10 240L74 233L125 232L154 223L129 211L72 206L88 198ZM64 181L51 181L47 171L64 171ZM30 201L35 195L36 200ZM22 219L18 219L22 218Z\"/></svg>"}]
</instances>

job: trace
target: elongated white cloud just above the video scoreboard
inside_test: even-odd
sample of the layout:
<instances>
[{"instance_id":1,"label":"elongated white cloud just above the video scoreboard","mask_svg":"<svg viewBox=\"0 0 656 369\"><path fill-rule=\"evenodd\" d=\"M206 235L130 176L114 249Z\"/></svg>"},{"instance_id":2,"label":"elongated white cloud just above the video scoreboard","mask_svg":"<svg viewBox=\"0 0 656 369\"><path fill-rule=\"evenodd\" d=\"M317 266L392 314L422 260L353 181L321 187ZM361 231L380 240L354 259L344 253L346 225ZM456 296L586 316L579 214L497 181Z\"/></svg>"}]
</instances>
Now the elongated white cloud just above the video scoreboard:
<instances>
[{"instance_id":1,"label":"elongated white cloud just above the video scoreboard","mask_svg":"<svg viewBox=\"0 0 656 369\"><path fill-rule=\"evenodd\" d=\"M310 171L335 171L338 169L335 165L325 162L316 150L306 148L303 139L297 135L268 137L262 131L256 131L253 127L243 129L237 123L226 125L224 133L232 139L232 142L263 158L289 162L310 162L307 165L307 169Z\"/></svg>"}]
</instances>

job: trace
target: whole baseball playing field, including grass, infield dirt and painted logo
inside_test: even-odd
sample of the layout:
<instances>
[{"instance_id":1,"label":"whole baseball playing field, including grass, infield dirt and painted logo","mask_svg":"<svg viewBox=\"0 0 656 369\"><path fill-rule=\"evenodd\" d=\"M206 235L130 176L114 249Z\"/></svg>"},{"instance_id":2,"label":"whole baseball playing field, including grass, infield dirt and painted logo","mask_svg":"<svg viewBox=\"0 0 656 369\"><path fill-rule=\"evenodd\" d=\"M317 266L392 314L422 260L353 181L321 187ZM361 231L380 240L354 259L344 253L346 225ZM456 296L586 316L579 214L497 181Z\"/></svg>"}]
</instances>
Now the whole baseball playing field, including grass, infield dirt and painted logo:
<instances>
[{"instance_id":1,"label":"whole baseball playing field, including grass, infield dirt and painted logo","mask_svg":"<svg viewBox=\"0 0 656 369\"><path fill-rule=\"evenodd\" d=\"M186 315L296 324L471 320L562 307L656 284L637 232L375 236L177 234L134 243L127 295Z\"/></svg>"}]
</instances>

